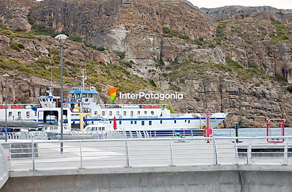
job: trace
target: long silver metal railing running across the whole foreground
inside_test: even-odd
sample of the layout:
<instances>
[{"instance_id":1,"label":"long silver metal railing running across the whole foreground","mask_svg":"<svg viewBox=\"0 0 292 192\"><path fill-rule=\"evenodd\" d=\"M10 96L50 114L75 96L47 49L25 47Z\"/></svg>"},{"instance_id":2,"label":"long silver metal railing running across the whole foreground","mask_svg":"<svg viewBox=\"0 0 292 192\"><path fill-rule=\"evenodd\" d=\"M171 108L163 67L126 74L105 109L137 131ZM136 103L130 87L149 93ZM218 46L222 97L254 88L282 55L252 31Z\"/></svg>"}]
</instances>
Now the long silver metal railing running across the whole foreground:
<instances>
[{"instance_id":1,"label":"long silver metal railing running across the whole foreground","mask_svg":"<svg viewBox=\"0 0 292 192\"><path fill-rule=\"evenodd\" d=\"M266 142L267 138L284 138L285 143L270 144ZM243 142L237 143L237 140ZM63 143L63 152L60 152L60 143ZM117 166L292 164L292 137L34 140L8 144L10 148L6 149L6 154L10 158L8 166L11 171Z\"/></svg>"}]
</instances>

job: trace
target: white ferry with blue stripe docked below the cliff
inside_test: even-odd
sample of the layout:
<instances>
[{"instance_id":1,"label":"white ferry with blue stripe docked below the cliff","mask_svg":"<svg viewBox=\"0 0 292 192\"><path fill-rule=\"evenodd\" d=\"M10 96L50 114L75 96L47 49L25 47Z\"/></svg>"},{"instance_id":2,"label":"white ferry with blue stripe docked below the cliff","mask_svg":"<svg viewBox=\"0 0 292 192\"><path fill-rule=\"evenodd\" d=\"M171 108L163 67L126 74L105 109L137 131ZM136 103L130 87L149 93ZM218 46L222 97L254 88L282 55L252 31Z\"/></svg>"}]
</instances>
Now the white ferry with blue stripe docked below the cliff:
<instances>
[{"instance_id":1,"label":"white ferry with blue stripe docked below the cliff","mask_svg":"<svg viewBox=\"0 0 292 192\"><path fill-rule=\"evenodd\" d=\"M204 113L170 113L165 104L102 104L97 101L95 87L86 87L88 78L82 70L82 84L71 88L69 97L60 102L53 96L51 88L44 96L38 96L40 104L7 104L8 120L34 120L40 126L61 125L61 104L63 105L63 125L68 130L82 131L86 126L98 127L104 131L153 131L167 133L201 132L206 127ZM0 105L0 119L5 119L5 105ZM221 123L228 112L210 114L210 128ZM106 122L105 122L105 119ZM114 126L114 119L115 124ZM101 123L106 123L105 125ZM99 126L93 126L99 125ZM91 128L92 129L92 128ZM202 135L202 134L201 134Z\"/></svg>"}]
</instances>

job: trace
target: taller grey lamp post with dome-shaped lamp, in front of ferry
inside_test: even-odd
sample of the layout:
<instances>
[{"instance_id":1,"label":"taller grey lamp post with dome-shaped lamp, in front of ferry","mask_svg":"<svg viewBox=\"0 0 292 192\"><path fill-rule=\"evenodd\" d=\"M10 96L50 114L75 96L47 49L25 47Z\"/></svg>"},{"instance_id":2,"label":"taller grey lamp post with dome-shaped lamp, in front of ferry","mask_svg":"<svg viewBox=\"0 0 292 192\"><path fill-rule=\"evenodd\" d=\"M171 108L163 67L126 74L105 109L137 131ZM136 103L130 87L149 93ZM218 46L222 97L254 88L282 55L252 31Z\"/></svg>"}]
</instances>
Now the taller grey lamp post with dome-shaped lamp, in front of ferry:
<instances>
[{"instance_id":1,"label":"taller grey lamp post with dome-shaped lamp, in front of ferry","mask_svg":"<svg viewBox=\"0 0 292 192\"><path fill-rule=\"evenodd\" d=\"M64 34L57 35L55 37L59 40L60 49L61 49L61 140L63 140L63 46L68 39L68 37ZM63 152L63 142L61 144L61 153Z\"/></svg>"}]
</instances>

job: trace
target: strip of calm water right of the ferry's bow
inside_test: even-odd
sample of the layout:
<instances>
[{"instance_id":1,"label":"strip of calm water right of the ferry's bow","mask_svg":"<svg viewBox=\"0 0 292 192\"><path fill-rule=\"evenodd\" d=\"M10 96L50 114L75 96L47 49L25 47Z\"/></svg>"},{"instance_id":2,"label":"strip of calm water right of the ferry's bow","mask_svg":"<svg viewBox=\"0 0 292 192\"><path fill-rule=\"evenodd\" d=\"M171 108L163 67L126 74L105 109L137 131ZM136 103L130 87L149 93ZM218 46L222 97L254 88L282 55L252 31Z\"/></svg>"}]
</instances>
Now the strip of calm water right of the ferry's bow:
<instances>
[{"instance_id":1,"label":"strip of calm water right of the ferry's bow","mask_svg":"<svg viewBox=\"0 0 292 192\"><path fill-rule=\"evenodd\" d=\"M282 135L282 129L271 128L271 136ZM234 137L235 129L213 129L214 137ZM239 137L256 137L256 136L267 136L266 128L241 128L238 131ZM285 136L292 136L292 127L285 127Z\"/></svg>"}]
</instances>

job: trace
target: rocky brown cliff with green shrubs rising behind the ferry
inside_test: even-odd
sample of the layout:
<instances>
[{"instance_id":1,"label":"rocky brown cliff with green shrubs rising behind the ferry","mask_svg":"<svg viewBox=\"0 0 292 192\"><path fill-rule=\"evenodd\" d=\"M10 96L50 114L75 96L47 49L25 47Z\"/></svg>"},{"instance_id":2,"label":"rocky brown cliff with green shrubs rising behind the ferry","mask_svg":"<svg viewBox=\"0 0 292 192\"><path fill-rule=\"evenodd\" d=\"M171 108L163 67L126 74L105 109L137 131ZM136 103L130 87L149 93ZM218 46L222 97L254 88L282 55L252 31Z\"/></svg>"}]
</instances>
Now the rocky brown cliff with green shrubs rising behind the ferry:
<instances>
[{"instance_id":1,"label":"rocky brown cliff with green shrubs rising behind the ferry","mask_svg":"<svg viewBox=\"0 0 292 192\"><path fill-rule=\"evenodd\" d=\"M188 102L192 111L231 112L222 126L229 126L232 120L262 126L272 117L287 118L292 124L292 94L287 90L292 83L290 10L198 9L186 0L43 0L37 6L33 6L34 0L27 1L21 8L31 9L29 14L26 11L28 17L20 11L9 19L22 15L27 23L23 21L21 30L32 26L25 33L29 38L23 38L24 32L19 30L8 34L18 26L3 19L8 18L7 9L20 5L5 1L6 9L0 9L0 15L6 15L0 21L9 27L0 32L2 63L20 62L13 61L15 67L10 69L15 74L11 102L35 101L33 96L48 84L42 78L49 80L52 74L58 80L57 42L37 34L53 31L84 42L69 41L65 48L68 87L76 84L70 78L87 68L90 83L99 88L105 102L109 86L124 92L179 92L184 94L183 100L168 100L177 111L184 112ZM13 42L24 49L11 50ZM108 51L99 51L103 49ZM39 70L33 71L35 68ZM28 78L22 83L31 86L18 85L21 78L16 77ZM33 81L39 83L29 83ZM13 88L21 94L16 97ZM28 89L37 91L29 94Z\"/></svg>"}]
</instances>

